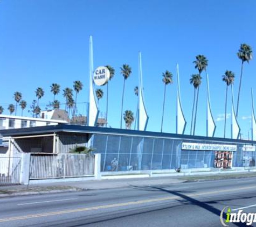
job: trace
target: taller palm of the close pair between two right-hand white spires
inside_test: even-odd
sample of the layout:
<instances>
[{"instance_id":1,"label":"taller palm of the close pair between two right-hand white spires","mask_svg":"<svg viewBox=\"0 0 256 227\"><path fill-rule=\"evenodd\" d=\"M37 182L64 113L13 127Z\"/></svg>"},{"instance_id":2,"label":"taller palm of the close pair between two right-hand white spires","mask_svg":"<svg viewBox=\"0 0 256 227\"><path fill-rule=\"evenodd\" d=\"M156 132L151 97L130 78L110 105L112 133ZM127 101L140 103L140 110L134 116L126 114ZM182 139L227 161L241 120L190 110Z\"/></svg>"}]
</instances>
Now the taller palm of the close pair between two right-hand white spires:
<instances>
[{"instance_id":1,"label":"taller palm of the close pair between two right-hand white spires","mask_svg":"<svg viewBox=\"0 0 256 227\"><path fill-rule=\"evenodd\" d=\"M201 73L203 72L203 70L206 71L206 68L208 66L208 60L206 59L206 57L204 55L200 55L199 54L199 55L196 56L196 61L193 61L193 63L195 63L195 68L198 69L199 77L200 77L200 80L201 80L202 79ZM195 131L196 131L196 117L197 117L198 95L199 95L199 86L198 86L198 89L197 89L196 111L195 111L193 135L195 135Z\"/></svg>"}]
</instances>

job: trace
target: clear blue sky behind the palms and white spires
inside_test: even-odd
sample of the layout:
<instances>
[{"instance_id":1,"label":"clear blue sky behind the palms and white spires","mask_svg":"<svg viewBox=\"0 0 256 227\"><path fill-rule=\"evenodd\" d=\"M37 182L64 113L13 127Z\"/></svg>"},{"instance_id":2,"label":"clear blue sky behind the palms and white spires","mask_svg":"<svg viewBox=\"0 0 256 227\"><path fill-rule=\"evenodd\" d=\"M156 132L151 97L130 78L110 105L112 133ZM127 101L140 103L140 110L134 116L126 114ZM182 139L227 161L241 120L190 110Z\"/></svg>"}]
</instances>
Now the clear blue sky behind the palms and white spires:
<instances>
[{"instance_id":1,"label":"clear blue sky behind the palms and white spires","mask_svg":"<svg viewBox=\"0 0 256 227\"><path fill-rule=\"evenodd\" d=\"M132 75L126 83L124 110L135 112L133 89L138 84L138 52L142 52L143 85L149 114L148 131L160 131L164 85L162 72L174 74L167 88L164 132L175 132L176 63L179 64L181 100L190 131L193 87L189 84L195 56L209 60L207 73L216 136L223 136L225 107L225 70L236 74L234 98L237 100L241 62L237 51L241 43L256 49L256 2L250 1L114 1L114 0L1 0L0 1L0 105L8 113L15 104L13 93L20 91L30 105L34 90L43 87L44 106L52 101L51 83L61 89L81 80L79 112L86 112L88 100L88 39L93 36L94 66L111 65L116 74L109 83L109 124L119 127L123 77L120 66L128 63ZM256 93L256 62L245 63L238 122L243 137L251 127L251 87ZM196 134L206 134L206 78L199 93ZM105 90L106 88L103 87ZM228 113L231 113L229 96ZM105 97L106 98L106 97ZM105 112L106 99L100 100ZM64 103L61 94L57 99ZM28 105L28 106L29 106ZM27 108L29 110L29 108ZM18 114L20 110L18 110ZM30 116L25 111L27 116ZM227 119L230 137L231 119Z\"/></svg>"}]
</instances>

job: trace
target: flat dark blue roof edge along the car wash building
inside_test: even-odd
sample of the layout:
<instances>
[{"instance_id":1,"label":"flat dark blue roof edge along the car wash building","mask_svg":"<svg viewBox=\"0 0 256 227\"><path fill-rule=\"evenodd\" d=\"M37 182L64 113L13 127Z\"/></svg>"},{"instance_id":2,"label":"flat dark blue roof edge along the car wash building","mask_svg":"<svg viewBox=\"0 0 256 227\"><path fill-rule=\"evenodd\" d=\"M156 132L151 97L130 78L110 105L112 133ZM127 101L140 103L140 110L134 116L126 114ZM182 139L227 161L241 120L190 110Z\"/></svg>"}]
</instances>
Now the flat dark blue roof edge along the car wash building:
<instances>
[{"instance_id":1,"label":"flat dark blue roof edge along the car wash building","mask_svg":"<svg viewBox=\"0 0 256 227\"><path fill-rule=\"evenodd\" d=\"M55 133L71 132L71 133L83 133L83 134L113 134L116 136L158 137L158 138L175 138L175 139L187 139L187 140L219 141L222 143L226 142L226 143L256 144L256 141L252 141L252 140L190 136L185 134L182 135L182 134L174 134L174 133L114 129L109 127L90 127L90 126L71 125L71 124L58 124L58 125L47 125L47 126L38 126L38 127L26 127L22 129L0 130L0 134L2 134L3 137L29 136L29 135L40 135L40 134L43 135L46 133L54 133L54 132Z\"/></svg>"}]
</instances>

